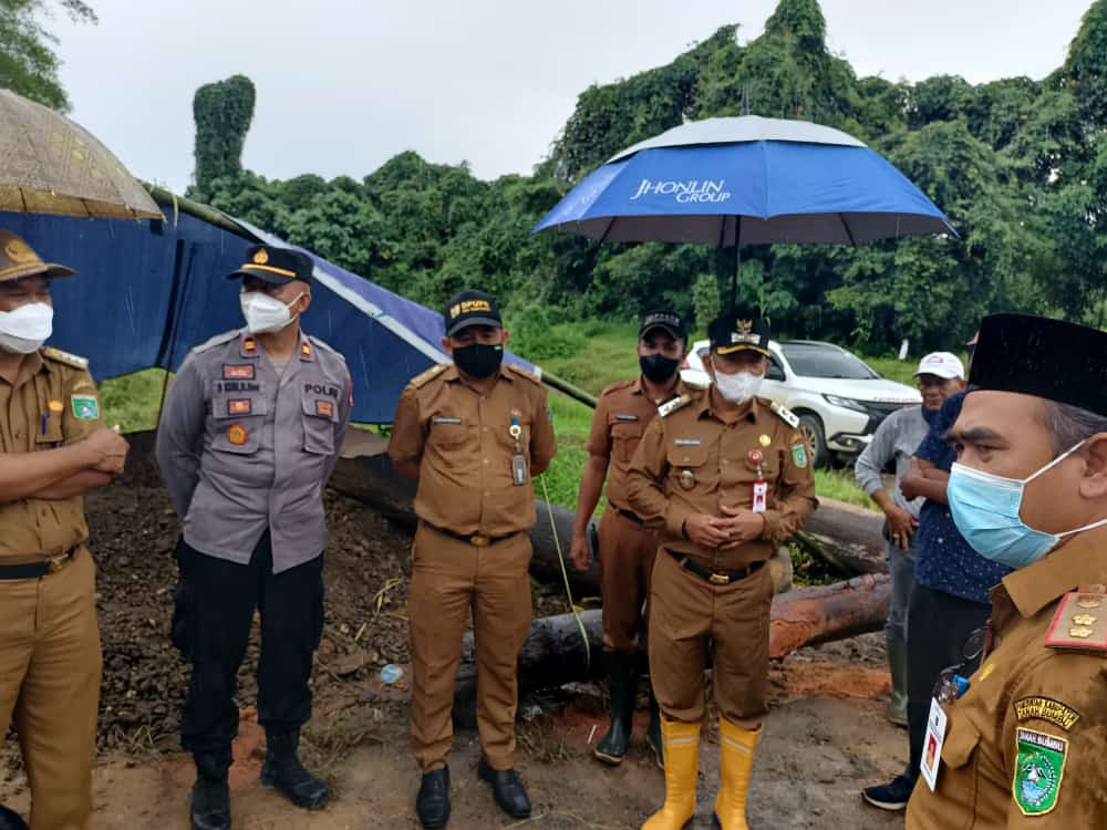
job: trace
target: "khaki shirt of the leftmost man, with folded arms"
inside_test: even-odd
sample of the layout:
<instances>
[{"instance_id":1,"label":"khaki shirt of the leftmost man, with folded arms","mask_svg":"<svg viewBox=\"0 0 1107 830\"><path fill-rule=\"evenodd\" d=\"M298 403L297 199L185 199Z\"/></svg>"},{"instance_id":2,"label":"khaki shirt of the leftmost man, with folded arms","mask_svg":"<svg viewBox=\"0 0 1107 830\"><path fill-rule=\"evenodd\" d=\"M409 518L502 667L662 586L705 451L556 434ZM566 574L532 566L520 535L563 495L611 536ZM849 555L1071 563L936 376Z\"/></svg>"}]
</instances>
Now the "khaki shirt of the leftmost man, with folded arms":
<instances>
[{"instance_id":1,"label":"khaki shirt of the leftmost man, with folded arms","mask_svg":"<svg viewBox=\"0 0 1107 830\"><path fill-rule=\"evenodd\" d=\"M80 357L40 349L23 359L14 386L0 378L0 452L4 454L75 444L102 426L96 386ZM39 561L87 538L81 496L0 505L0 561Z\"/></svg>"}]
</instances>

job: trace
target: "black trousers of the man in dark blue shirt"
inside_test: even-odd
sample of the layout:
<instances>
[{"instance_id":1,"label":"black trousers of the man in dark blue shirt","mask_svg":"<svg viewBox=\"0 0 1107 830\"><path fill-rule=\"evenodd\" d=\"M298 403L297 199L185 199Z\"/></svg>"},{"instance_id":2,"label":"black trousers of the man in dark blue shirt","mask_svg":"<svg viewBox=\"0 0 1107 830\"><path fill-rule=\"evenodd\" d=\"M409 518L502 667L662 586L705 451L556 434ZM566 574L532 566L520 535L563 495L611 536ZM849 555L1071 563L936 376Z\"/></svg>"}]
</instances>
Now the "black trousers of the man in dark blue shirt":
<instances>
[{"instance_id":1,"label":"black trousers of the man in dark blue shirt","mask_svg":"<svg viewBox=\"0 0 1107 830\"><path fill-rule=\"evenodd\" d=\"M973 632L987 625L992 605L962 600L915 583L907 614L907 730L910 758L907 775L919 778L922 747L927 740L930 701L942 671L965 663L964 649ZM969 661L959 672L968 677L980 660Z\"/></svg>"}]
</instances>

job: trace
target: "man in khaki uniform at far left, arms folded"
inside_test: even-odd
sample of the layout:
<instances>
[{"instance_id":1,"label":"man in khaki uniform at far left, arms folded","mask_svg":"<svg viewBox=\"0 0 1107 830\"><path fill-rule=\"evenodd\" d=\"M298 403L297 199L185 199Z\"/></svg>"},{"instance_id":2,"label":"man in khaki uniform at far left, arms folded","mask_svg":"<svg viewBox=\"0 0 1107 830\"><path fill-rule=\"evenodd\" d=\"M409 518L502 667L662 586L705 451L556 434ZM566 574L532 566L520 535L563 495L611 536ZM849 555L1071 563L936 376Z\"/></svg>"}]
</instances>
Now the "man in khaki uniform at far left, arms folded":
<instances>
[{"instance_id":1,"label":"man in khaki uniform at far left, arms folded","mask_svg":"<svg viewBox=\"0 0 1107 830\"><path fill-rule=\"evenodd\" d=\"M101 652L82 497L127 454L87 361L41 347L50 280L71 274L0 231L0 740L14 719L32 830L91 827Z\"/></svg>"}]
</instances>

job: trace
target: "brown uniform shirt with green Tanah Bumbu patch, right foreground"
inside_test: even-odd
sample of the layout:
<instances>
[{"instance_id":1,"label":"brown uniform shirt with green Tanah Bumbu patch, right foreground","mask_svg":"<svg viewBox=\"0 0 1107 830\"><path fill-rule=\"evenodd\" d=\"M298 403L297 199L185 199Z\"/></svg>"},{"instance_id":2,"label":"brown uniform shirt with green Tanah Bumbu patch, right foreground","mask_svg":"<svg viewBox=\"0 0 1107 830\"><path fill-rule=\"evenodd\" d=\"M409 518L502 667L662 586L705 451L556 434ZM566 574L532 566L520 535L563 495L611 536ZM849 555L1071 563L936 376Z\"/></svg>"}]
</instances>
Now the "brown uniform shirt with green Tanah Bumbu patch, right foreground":
<instances>
[{"instance_id":1,"label":"brown uniform shirt with green Tanah Bumbu patch, right foreground","mask_svg":"<svg viewBox=\"0 0 1107 830\"><path fill-rule=\"evenodd\" d=\"M1093 531L992 590L994 650L948 707L937 789L920 780L908 830L1107 828L1107 596L1067 595L1104 584ZM1085 647L1047 643L1059 606L1054 636Z\"/></svg>"}]
</instances>

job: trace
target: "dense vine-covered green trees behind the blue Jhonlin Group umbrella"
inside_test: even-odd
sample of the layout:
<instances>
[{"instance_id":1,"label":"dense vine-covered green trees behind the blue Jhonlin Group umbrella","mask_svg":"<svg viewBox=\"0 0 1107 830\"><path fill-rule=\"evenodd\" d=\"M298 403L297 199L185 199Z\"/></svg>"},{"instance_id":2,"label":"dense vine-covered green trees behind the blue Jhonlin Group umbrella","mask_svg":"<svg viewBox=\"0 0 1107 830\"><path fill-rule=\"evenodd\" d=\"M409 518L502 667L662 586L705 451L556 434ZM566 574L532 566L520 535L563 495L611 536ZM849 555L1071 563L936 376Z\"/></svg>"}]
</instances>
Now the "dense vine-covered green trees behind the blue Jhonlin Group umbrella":
<instances>
[{"instance_id":1,"label":"dense vine-covered green trees behind the blue Jhonlin Group umbrella","mask_svg":"<svg viewBox=\"0 0 1107 830\"><path fill-rule=\"evenodd\" d=\"M761 308L776 333L870 352L909 338L918 351L963 342L995 311L1107 322L1107 0L1090 6L1065 64L1041 80L859 79L827 49L816 0L782 0L763 34L745 43L737 35L724 27L666 65L584 90L534 175L495 181L414 153L361 181L269 181L241 170L252 86L232 79L208 93L203 124L198 114L190 195L433 308L463 286L496 292L516 329L513 344L557 361L576 341L552 332L582 318L628 321L671 303L705 325L728 300L733 253L597 246L531 235L534 225L622 147L748 107L857 135L960 235L743 249L739 302ZM229 102L235 115L224 117Z\"/></svg>"}]
</instances>

